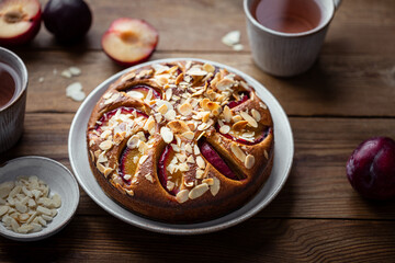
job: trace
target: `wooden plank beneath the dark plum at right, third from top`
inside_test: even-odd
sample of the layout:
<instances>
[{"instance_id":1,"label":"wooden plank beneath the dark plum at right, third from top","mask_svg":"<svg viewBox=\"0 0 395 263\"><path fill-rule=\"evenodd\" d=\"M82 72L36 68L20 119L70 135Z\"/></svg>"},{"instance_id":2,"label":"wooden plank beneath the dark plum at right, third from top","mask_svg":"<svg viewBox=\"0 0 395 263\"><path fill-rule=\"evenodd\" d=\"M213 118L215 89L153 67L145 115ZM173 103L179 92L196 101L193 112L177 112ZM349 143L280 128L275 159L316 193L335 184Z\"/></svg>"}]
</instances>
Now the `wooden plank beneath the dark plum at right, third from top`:
<instances>
[{"instance_id":1,"label":"wooden plank beneath the dark plum at right, third from top","mask_svg":"<svg viewBox=\"0 0 395 263\"><path fill-rule=\"evenodd\" d=\"M21 141L0 161L45 156L68 168L67 138L72 114L26 114ZM395 119L292 117L295 157L289 181L258 217L394 219L394 202L368 202L350 186L346 162L352 150L372 136L395 138ZM105 215L83 191L82 215Z\"/></svg>"}]
</instances>

